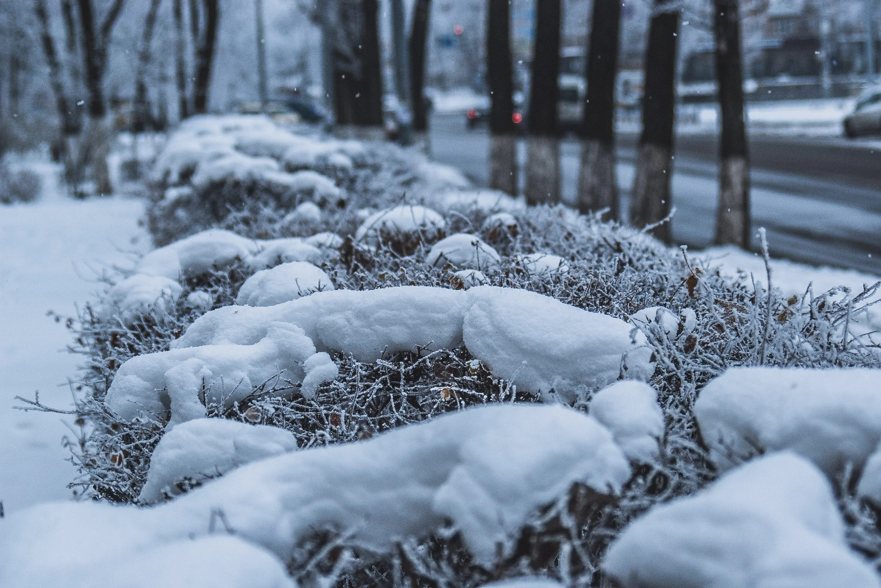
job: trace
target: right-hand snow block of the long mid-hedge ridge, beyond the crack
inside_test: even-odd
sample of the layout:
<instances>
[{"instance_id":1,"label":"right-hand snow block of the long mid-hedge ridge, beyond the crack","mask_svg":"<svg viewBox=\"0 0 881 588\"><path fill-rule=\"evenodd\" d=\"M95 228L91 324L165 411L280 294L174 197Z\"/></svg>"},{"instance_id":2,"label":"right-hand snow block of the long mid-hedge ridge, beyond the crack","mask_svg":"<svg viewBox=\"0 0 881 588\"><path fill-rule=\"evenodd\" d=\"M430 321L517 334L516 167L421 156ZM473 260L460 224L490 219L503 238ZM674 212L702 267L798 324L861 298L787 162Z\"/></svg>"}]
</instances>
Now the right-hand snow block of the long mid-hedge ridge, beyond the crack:
<instances>
[{"instance_id":1,"label":"right-hand snow block of the long mid-hedge ridge, beyond the crack","mask_svg":"<svg viewBox=\"0 0 881 588\"><path fill-rule=\"evenodd\" d=\"M633 327L623 320L527 290L479 286L467 295L465 346L519 390L571 401L579 386L653 371L651 350L631 341Z\"/></svg>"}]
</instances>

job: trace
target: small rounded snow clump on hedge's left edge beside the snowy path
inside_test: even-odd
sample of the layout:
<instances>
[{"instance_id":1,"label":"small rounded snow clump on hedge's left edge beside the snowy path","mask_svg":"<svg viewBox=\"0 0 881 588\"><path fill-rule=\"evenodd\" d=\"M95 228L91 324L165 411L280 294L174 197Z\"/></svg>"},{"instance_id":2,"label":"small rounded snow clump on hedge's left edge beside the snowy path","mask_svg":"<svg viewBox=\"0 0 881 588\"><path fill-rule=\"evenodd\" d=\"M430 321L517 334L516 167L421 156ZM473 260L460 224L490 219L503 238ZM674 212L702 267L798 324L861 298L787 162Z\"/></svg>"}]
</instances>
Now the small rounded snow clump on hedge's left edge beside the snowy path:
<instances>
[{"instance_id":1,"label":"small rounded snow clump on hedge's left edge beside the snowy path","mask_svg":"<svg viewBox=\"0 0 881 588\"><path fill-rule=\"evenodd\" d=\"M165 276L136 274L115 283L107 291L99 313L103 320L116 317L128 325L144 312L173 306L181 290L181 284Z\"/></svg>"}]
</instances>

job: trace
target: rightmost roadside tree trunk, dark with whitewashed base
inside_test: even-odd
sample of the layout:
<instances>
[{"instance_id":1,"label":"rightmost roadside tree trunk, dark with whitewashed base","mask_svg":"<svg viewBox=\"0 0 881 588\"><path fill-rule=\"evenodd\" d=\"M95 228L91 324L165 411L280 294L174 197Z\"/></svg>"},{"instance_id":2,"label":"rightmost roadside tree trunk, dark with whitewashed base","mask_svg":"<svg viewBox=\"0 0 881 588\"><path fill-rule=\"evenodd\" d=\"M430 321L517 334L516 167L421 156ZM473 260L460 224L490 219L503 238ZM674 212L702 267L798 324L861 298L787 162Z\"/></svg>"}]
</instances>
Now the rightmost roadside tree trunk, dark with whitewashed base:
<instances>
[{"instance_id":1,"label":"rightmost roadside tree trunk, dark with whitewashed base","mask_svg":"<svg viewBox=\"0 0 881 588\"><path fill-rule=\"evenodd\" d=\"M737 0L714 0L715 66L722 129L715 243L750 245L750 166L744 123L744 71Z\"/></svg>"}]
</instances>

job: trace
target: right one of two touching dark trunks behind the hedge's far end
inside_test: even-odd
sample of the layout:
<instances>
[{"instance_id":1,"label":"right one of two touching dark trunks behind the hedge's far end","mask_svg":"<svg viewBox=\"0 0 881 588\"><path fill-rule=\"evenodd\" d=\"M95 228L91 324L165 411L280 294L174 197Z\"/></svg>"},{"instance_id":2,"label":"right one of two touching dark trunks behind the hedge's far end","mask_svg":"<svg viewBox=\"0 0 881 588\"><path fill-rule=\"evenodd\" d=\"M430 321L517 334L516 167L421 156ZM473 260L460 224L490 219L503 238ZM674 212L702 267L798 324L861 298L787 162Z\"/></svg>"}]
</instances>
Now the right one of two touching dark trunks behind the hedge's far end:
<instances>
[{"instance_id":1,"label":"right one of two touching dark trunks behind the hedge's far end","mask_svg":"<svg viewBox=\"0 0 881 588\"><path fill-rule=\"evenodd\" d=\"M359 127L382 127L382 62L378 0L362 0L360 47L356 54L361 62L358 93L355 99L355 120Z\"/></svg>"}]
</instances>

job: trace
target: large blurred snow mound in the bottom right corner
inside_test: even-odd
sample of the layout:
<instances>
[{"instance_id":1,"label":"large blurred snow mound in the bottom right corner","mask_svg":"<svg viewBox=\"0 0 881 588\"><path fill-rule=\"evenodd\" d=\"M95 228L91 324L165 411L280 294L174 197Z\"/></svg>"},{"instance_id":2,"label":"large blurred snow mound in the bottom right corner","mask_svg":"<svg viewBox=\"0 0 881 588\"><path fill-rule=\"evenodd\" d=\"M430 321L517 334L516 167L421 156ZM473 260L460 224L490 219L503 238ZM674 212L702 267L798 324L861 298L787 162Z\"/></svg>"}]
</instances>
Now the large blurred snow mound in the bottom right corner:
<instances>
[{"instance_id":1,"label":"large blurred snow mound in the bottom right corner","mask_svg":"<svg viewBox=\"0 0 881 588\"><path fill-rule=\"evenodd\" d=\"M622 588L877 588L829 482L793 453L755 459L638 518L603 559Z\"/></svg>"}]
</instances>

